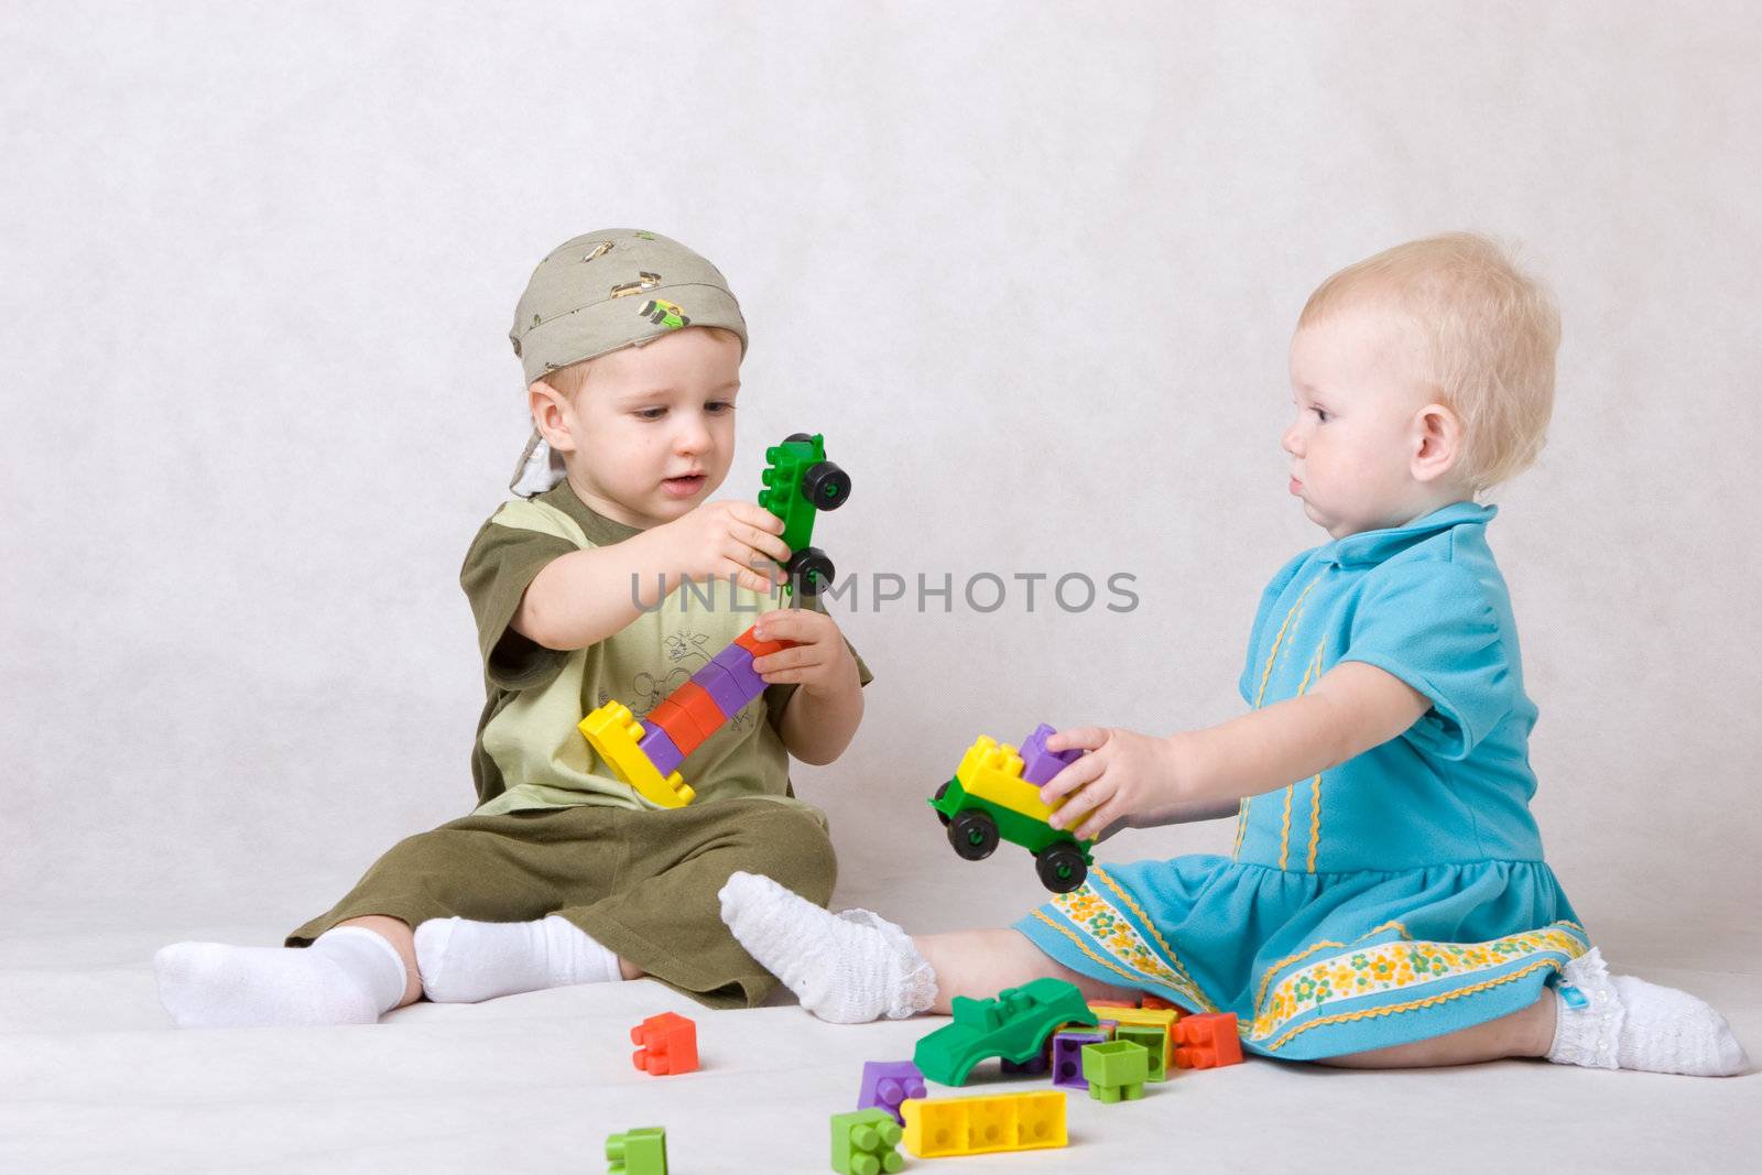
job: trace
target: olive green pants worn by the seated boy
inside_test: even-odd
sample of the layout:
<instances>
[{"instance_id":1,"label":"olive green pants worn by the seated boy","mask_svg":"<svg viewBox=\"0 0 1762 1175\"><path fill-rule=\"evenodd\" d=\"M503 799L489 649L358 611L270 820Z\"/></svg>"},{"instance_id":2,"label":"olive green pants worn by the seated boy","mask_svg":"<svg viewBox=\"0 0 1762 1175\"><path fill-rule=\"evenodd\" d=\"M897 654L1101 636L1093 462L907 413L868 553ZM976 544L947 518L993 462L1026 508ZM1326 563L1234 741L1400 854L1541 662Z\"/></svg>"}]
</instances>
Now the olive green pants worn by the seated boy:
<instances>
[{"instance_id":1,"label":"olive green pants worn by the seated boy","mask_svg":"<svg viewBox=\"0 0 1762 1175\"><path fill-rule=\"evenodd\" d=\"M715 893L735 870L765 874L819 905L837 881L823 817L772 800L467 816L400 840L287 946L310 946L363 914L412 928L430 918L557 914L710 1008L751 1008L777 981L722 925Z\"/></svg>"}]
</instances>

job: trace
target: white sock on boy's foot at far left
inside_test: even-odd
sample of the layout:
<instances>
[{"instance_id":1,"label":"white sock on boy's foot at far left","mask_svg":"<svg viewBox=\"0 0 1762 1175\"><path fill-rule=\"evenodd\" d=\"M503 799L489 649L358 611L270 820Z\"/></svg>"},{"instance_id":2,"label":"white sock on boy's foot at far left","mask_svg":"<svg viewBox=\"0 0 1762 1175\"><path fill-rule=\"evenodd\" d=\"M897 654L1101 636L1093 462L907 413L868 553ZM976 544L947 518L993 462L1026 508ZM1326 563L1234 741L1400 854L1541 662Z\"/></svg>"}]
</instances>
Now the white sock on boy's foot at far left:
<instances>
[{"instance_id":1,"label":"white sock on boy's foot at far left","mask_svg":"<svg viewBox=\"0 0 1762 1175\"><path fill-rule=\"evenodd\" d=\"M173 942L153 974L180 1029L374 1024L409 981L398 948L366 927L335 927L303 950Z\"/></svg>"}]
</instances>

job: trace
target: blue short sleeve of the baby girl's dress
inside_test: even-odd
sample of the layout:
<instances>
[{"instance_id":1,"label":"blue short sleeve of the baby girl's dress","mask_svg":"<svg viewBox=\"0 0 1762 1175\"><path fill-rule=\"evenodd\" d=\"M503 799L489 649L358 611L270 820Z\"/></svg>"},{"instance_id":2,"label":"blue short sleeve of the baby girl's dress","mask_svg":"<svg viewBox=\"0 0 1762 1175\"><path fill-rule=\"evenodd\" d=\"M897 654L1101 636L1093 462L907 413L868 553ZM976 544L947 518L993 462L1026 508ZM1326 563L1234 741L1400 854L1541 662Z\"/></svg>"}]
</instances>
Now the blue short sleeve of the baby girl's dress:
<instances>
[{"instance_id":1,"label":"blue short sleeve of the baby girl's dress","mask_svg":"<svg viewBox=\"0 0 1762 1175\"><path fill-rule=\"evenodd\" d=\"M1499 618L1468 571L1441 562L1385 567L1366 587L1341 661L1392 673L1431 699L1403 735L1420 750L1466 759L1517 705Z\"/></svg>"}]
</instances>

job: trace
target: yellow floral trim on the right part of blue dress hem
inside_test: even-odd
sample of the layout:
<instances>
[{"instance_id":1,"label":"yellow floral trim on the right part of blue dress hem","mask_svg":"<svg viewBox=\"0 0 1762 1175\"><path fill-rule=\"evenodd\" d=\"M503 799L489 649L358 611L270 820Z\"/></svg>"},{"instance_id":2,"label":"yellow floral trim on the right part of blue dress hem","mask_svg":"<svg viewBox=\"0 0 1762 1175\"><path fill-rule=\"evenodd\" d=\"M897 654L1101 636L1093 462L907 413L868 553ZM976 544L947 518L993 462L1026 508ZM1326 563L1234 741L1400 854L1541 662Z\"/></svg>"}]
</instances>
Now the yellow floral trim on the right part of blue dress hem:
<instances>
[{"instance_id":1,"label":"yellow floral trim on the right part of blue dress hem","mask_svg":"<svg viewBox=\"0 0 1762 1175\"><path fill-rule=\"evenodd\" d=\"M1572 934L1566 927L1572 927L1579 934ZM1586 951L1582 934L1584 928L1573 921L1556 921L1540 930L1526 930L1503 939L1492 939L1491 942L1401 941L1360 950L1341 948L1341 955L1322 958L1284 976L1272 988L1270 997L1267 997L1265 976L1274 974L1279 967L1292 962L1281 960L1274 967L1269 967L1262 978L1262 994L1255 1001L1255 1025L1249 1036L1256 1041L1265 1041L1281 1032L1297 1016L1343 999L1401 992L1441 979L1473 976L1496 967L1507 967L1542 951L1558 951L1566 958L1577 958ZM1339 948L1337 942L1327 942L1325 946ZM1299 953L1293 958L1304 958L1307 953ZM1524 972L1528 971L1533 971L1533 967L1524 969ZM1441 999L1445 995L1431 997L1431 1002ZM1385 1011L1396 1011L1396 1008L1385 1008ZM1366 1009L1359 1015L1380 1013ZM1288 1036L1283 1039L1288 1039ZM1269 1045L1269 1048L1274 1046Z\"/></svg>"}]
</instances>

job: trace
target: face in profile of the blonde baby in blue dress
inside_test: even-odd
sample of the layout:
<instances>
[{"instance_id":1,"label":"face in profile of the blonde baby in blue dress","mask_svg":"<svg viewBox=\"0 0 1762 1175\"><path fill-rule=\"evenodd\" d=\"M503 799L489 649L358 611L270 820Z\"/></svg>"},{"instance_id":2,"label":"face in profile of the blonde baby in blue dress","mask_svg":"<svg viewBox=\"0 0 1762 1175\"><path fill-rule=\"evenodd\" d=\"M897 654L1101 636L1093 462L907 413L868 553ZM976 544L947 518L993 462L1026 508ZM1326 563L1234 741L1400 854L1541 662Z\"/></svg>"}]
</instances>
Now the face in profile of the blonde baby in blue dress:
<instances>
[{"instance_id":1,"label":"face in profile of the blonde baby in blue dress","mask_svg":"<svg viewBox=\"0 0 1762 1175\"><path fill-rule=\"evenodd\" d=\"M1410 331L1374 307L1341 308L1292 338L1290 490L1334 539L1404 525L1455 497L1415 476L1433 403L1417 366Z\"/></svg>"}]
</instances>

